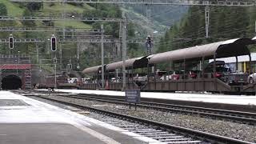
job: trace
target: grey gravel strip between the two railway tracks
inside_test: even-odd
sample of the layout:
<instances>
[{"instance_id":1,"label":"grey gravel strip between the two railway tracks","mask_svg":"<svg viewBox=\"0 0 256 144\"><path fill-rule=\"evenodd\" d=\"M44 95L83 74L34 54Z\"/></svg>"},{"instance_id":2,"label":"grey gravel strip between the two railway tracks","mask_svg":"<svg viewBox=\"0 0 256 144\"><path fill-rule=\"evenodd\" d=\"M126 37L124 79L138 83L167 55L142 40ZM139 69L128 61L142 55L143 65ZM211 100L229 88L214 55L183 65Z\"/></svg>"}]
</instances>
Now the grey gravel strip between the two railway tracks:
<instances>
[{"instance_id":1,"label":"grey gravel strip between the two railway tracks","mask_svg":"<svg viewBox=\"0 0 256 144\"><path fill-rule=\"evenodd\" d=\"M44 97L54 98L65 102L75 102L84 106L90 106L101 110L127 114L138 118L146 118L157 122L165 122L175 126L182 126L194 130L205 131L211 134L218 134L229 138L237 138L246 142L256 143L256 126L238 122L228 122L212 118L202 118L198 115L178 114L140 107L138 107L135 111L134 106L132 106L132 109L129 110L129 106L125 105L67 98L62 96L50 95ZM90 115L87 116L90 117Z\"/></svg>"}]
</instances>

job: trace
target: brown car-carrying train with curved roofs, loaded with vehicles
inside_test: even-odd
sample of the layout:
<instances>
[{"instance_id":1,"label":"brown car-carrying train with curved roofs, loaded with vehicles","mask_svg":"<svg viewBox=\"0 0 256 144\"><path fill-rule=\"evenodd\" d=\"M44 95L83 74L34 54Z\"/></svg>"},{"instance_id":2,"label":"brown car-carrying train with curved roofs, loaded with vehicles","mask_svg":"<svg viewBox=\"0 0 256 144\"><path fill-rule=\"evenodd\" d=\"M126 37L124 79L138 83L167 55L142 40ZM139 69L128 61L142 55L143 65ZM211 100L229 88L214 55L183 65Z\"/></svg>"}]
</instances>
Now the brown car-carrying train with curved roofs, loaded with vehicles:
<instances>
[{"instance_id":1,"label":"brown car-carrying train with curved roofs, loaded with vehicles","mask_svg":"<svg viewBox=\"0 0 256 144\"><path fill-rule=\"evenodd\" d=\"M251 63L249 45L251 38L236 38L214 42L202 46L193 46L180 50L126 59L126 84L122 84L122 61L104 66L105 83L102 87L102 66L89 67L83 74L90 80L80 89L106 90L140 89L144 91L209 91L224 94L255 94L256 85L248 82L253 74L252 66L246 73L230 71L218 58L235 57L238 68L238 56L248 55ZM209 63L209 60L213 62ZM162 67L167 70L161 71Z\"/></svg>"}]
</instances>

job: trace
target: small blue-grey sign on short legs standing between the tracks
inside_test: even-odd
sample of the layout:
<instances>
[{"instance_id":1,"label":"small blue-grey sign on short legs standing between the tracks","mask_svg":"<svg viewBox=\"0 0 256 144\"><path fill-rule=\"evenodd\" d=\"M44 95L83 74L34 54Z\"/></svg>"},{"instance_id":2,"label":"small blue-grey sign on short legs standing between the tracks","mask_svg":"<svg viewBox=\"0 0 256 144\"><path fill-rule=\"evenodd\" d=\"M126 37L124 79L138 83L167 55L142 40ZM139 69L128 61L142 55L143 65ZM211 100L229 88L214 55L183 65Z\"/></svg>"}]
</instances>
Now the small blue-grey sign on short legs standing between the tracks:
<instances>
[{"instance_id":1,"label":"small blue-grey sign on short legs standing between the tracks","mask_svg":"<svg viewBox=\"0 0 256 144\"><path fill-rule=\"evenodd\" d=\"M134 103L135 110L137 110L136 104L141 102L141 91L139 89L126 90L126 102L129 102L129 109L130 103Z\"/></svg>"}]
</instances>

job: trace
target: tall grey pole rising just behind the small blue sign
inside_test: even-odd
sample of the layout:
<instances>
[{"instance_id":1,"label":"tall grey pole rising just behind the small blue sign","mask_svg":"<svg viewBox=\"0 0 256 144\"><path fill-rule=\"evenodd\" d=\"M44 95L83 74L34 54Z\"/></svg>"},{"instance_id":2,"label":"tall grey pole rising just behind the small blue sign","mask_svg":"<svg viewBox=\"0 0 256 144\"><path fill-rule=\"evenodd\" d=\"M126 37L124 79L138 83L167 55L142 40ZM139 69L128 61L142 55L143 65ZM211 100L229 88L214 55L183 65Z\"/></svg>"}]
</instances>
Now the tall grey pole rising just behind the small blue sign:
<instances>
[{"instance_id":1,"label":"tall grey pole rising just behind the small blue sign","mask_svg":"<svg viewBox=\"0 0 256 144\"><path fill-rule=\"evenodd\" d=\"M126 90L126 26L127 19L125 13L122 13L122 90Z\"/></svg>"}]
</instances>

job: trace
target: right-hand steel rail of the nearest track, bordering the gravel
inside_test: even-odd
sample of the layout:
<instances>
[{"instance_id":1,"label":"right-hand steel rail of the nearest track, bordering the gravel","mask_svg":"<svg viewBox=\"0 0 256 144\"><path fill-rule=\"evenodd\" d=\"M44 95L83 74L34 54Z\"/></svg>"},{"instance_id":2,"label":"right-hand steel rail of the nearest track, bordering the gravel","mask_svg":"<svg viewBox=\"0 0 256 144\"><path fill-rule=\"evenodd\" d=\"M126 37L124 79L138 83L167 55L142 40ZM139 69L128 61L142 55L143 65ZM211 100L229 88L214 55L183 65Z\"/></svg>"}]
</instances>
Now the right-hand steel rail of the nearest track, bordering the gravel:
<instances>
[{"instance_id":1,"label":"right-hand steel rail of the nearest track, bordering the gravel","mask_svg":"<svg viewBox=\"0 0 256 144\"><path fill-rule=\"evenodd\" d=\"M114 113L114 112L110 112L110 111L106 111L106 110L93 108L90 106L83 106L83 105L73 103L73 102L65 102L65 101L61 101L58 99L46 98L46 97L42 97L42 96L35 96L35 97L44 98L46 100L50 100L53 102L59 102L59 103L62 103L62 104L68 105L68 106L74 106L74 107L84 109L84 110L94 111L95 113L99 113L99 114L106 114L106 115L109 115L114 118L126 118L126 120L129 120L132 122L143 122L146 125L158 126L159 129L174 130L178 133L190 135L192 138L197 137L199 139L202 139L203 141L205 141L207 139L210 142L222 142L222 143L232 143L232 144L251 144L251 142L245 142L245 141L234 139L234 138L227 138L227 137L220 136L217 134L210 134L210 133L202 132L199 130L188 129L188 128L181 127L181 126L174 126L174 125L170 125L170 124L163 123L163 122L151 121L151 120L148 120L145 118L138 118L138 117L129 116L129 115L125 115L125 114L118 114L118 113Z\"/></svg>"}]
</instances>

